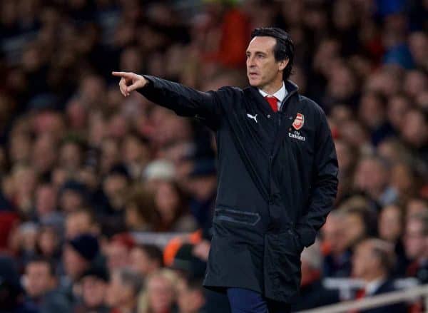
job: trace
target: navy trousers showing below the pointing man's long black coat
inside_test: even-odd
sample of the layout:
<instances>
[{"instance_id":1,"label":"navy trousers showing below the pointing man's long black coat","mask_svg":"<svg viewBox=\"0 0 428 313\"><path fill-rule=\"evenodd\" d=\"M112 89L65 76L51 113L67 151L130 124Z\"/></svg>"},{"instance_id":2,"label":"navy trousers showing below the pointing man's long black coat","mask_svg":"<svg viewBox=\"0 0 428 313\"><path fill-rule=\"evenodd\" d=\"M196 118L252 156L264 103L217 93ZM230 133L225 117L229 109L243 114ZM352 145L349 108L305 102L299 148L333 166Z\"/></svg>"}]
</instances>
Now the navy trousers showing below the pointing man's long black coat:
<instances>
[{"instance_id":1,"label":"navy trousers showing below the pointing man's long black coat","mask_svg":"<svg viewBox=\"0 0 428 313\"><path fill-rule=\"evenodd\" d=\"M232 313L288 313L290 304L265 299L258 292L243 288L228 288Z\"/></svg>"}]
</instances>

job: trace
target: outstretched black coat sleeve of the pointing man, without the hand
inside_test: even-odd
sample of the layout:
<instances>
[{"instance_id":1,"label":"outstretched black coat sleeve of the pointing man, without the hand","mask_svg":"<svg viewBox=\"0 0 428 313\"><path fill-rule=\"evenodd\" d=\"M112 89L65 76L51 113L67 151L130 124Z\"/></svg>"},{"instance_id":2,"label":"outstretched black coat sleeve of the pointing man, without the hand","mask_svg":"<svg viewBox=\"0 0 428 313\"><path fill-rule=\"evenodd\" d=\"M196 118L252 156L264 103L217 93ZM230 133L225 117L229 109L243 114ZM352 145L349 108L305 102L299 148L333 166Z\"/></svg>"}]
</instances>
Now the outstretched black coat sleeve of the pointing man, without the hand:
<instances>
[{"instance_id":1,"label":"outstretched black coat sleeve of the pointing man, without the hand","mask_svg":"<svg viewBox=\"0 0 428 313\"><path fill-rule=\"evenodd\" d=\"M200 118L211 128L215 128L221 116L220 103L216 91L201 92L162 78L144 75L148 83L138 92L157 103L169 108L178 116Z\"/></svg>"}]
</instances>

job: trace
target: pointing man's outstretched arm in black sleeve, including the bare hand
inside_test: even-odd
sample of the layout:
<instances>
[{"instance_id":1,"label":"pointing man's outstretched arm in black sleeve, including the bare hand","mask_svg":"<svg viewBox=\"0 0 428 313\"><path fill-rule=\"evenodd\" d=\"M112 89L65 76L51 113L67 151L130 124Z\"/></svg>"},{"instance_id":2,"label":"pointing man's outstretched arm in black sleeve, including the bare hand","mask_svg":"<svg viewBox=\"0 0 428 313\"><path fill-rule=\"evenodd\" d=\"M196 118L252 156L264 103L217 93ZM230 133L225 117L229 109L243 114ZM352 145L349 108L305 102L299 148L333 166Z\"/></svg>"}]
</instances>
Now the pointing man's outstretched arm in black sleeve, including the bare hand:
<instances>
[{"instance_id":1,"label":"pointing man's outstretched arm in black sleeve, including the bare hand","mask_svg":"<svg viewBox=\"0 0 428 313\"><path fill-rule=\"evenodd\" d=\"M141 76L129 72L113 72L121 77L119 88L123 96L138 91L148 100L170 108L179 116L198 117L215 128L221 116L220 103L215 91L203 93L165 79L154 76Z\"/></svg>"}]
</instances>

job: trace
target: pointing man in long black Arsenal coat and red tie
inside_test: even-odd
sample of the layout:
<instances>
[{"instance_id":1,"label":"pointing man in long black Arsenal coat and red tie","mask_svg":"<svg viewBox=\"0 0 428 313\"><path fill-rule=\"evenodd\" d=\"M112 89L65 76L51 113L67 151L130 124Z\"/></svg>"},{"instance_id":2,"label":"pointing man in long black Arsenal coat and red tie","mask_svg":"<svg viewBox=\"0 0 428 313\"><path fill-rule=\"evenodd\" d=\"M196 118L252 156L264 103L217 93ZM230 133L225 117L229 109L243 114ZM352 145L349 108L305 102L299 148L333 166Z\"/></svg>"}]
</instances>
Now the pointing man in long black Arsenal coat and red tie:
<instances>
[{"instance_id":1,"label":"pointing man in long black Arsenal coat and red tie","mask_svg":"<svg viewBox=\"0 0 428 313\"><path fill-rule=\"evenodd\" d=\"M153 76L113 72L124 96L138 90L216 132L218 195L204 285L227 292L232 312L287 312L337 193L337 158L325 113L287 81L294 46L281 29L255 29L250 87L202 93ZM265 98L266 96L266 98Z\"/></svg>"}]
</instances>

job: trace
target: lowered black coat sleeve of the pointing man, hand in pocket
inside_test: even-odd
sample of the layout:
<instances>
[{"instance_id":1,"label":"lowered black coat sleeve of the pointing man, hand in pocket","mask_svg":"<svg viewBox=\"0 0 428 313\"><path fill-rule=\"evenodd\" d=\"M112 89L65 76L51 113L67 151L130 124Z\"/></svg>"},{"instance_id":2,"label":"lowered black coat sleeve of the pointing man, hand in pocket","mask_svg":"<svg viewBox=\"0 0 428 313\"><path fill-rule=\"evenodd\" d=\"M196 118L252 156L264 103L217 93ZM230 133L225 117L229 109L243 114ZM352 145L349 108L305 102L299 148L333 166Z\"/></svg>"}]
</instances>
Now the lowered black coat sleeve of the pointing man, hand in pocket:
<instances>
[{"instance_id":1,"label":"lowered black coat sleeve of the pointing man, hand in pocket","mask_svg":"<svg viewBox=\"0 0 428 313\"><path fill-rule=\"evenodd\" d=\"M311 197L307 213L296 225L300 241L305 247L315 242L318 230L324 225L328 213L332 210L337 194L337 156L335 143L321 108L320 124L317 128L315 160L312 170Z\"/></svg>"}]
</instances>

